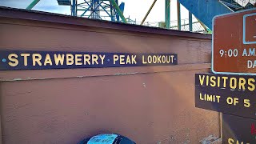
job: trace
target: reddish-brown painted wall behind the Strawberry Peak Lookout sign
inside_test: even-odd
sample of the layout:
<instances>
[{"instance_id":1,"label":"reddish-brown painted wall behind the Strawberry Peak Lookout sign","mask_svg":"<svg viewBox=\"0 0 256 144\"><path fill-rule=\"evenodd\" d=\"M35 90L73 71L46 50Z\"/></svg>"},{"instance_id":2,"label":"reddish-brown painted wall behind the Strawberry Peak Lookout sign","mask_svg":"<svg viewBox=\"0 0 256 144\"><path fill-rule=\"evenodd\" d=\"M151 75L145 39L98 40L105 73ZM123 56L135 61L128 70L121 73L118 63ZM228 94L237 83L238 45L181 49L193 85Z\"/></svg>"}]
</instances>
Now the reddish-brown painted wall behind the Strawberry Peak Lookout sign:
<instances>
[{"instance_id":1,"label":"reddish-brown painted wall behind the Strawberry Peak Lookout sign","mask_svg":"<svg viewBox=\"0 0 256 144\"><path fill-rule=\"evenodd\" d=\"M220 137L219 114L194 106L194 74L210 70L209 36L5 11L0 50L176 53L178 66L0 71L4 144L70 144L100 133L138 144Z\"/></svg>"}]
</instances>

